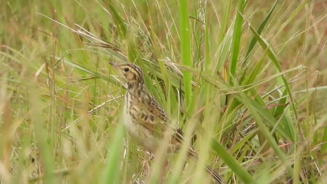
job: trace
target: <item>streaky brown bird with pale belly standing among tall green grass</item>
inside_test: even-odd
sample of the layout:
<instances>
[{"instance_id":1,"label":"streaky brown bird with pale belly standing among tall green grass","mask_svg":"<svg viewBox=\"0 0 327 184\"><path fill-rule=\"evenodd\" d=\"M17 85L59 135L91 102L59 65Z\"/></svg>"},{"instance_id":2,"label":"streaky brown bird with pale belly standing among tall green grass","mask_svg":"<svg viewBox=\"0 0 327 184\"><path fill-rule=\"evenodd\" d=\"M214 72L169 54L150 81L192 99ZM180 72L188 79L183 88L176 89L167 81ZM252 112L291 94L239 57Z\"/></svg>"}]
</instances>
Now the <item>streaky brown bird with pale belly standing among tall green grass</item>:
<instances>
[{"instance_id":1,"label":"streaky brown bird with pale belly standing among tall green grass","mask_svg":"<svg viewBox=\"0 0 327 184\"><path fill-rule=\"evenodd\" d=\"M150 94L144 83L142 69L132 63L109 64L117 70L127 83L127 93L122 114L122 122L131 138L146 150L154 153L162 139L164 132L171 135L169 152L176 152L184 141L184 133L178 125L172 125L167 112ZM188 156L198 159L197 152L189 145ZM206 171L218 182L224 183L222 177L206 166Z\"/></svg>"}]
</instances>

